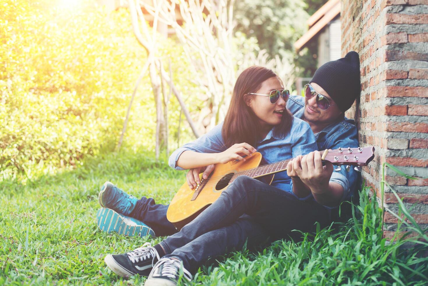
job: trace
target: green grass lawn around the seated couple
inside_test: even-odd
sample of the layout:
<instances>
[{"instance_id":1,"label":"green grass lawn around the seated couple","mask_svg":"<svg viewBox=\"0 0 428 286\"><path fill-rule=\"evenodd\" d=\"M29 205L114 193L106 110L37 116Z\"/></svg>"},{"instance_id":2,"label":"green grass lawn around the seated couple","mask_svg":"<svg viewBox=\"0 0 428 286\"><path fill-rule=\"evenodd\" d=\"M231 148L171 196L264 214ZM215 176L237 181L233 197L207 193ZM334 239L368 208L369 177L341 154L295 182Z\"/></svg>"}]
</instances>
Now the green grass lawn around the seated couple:
<instances>
[{"instance_id":1,"label":"green grass lawn around the seated couple","mask_svg":"<svg viewBox=\"0 0 428 286\"><path fill-rule=\"evenodd\" d=\"M168 203L184 183L153 154L121 152L86 160L73 171L21 185L0 184L0 285L133 285L104 264L106 253L123 253L161 238L130 238L98 230L98 190L112 181L136 196ZM366 190L364 190L366 191ZM405 211L405 210L404 210ZM382 211L361 196L347 223L303 234L303 241L276 241L257 253L248 250L212 259L194 275L203 285L425 285L428 244L411 250L404 241L382 238ZM405 214L405 212L404 212ZM425 251L425 256L423 255ZM217 260L217 261L216 261Z\"/></svg>"}]
</instances>

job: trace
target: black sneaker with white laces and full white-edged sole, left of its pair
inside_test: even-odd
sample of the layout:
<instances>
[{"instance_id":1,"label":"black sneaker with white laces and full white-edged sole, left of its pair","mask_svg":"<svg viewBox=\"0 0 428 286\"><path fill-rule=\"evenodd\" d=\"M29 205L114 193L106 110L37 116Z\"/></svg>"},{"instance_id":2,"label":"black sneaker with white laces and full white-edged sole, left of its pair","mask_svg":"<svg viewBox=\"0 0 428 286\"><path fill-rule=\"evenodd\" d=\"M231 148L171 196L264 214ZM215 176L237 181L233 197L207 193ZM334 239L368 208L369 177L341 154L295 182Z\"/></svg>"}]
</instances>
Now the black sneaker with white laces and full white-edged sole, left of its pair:
<instances>
[{"instance_id":1,"label":"black sneaker with white laces and full white-edged sole, left of its pair","mask_svg":"<svg viewBox=\"0 0 428 286\"><path fill-rule=\"evenodd\" d=\"M147 276L153 268L158 251L149 242L142 247L123 254L108 254L104 258L107 266L119 276Z\"/></svg>"}]
</instances>

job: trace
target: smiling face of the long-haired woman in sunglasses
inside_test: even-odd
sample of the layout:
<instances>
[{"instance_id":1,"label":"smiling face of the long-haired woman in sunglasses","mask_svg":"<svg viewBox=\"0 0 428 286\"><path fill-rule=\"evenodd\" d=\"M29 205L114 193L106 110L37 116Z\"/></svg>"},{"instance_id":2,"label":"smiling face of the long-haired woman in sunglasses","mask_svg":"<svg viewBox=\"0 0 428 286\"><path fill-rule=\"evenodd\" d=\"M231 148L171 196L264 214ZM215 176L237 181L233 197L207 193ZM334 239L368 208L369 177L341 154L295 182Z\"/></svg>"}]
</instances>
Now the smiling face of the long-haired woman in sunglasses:
<instances>
[{"instance_id":1,"label":"smiling face of the long-haired woman in sunglasses","mask_svg":"<svg viewBox=\"0 0 428 286\"><path fill-rule=\"evenodd\" d=\"M262 82L259 90L254 93L270 94L272 90L282 90L281 81L277 77L268 78ZM251 99L247 103L253 110L254 114L259 118L263 127L278 125L282 120L282 112L285 110L285 101L282 96L279 96L275 104L270 103L269 96L250 95Z\"/></svg>"}]
</instances>

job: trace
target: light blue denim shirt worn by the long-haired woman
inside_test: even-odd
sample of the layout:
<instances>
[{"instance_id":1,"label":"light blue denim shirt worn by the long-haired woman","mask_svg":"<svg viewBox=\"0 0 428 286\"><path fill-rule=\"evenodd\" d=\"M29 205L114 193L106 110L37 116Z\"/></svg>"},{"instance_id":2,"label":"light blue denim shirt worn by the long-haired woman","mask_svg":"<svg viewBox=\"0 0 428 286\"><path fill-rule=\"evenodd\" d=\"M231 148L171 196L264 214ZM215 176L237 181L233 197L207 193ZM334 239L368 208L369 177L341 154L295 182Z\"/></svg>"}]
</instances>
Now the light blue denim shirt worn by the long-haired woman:
<instances>
[{"instance_id":1,"label":"light blue denim shirt worn by the long-haired woman","mask_svg":"<svg viewBox=\"0 0 428 286\"><path fill-rule=\"evenodd\" d=\"M222 126L223 122L195 141L175 150L169 157L169 166L177 170L184 170L177 166L177 160L181 153L186 150L198 153L220 153L225 151L227 147L224 145L223 136L221 135ZM298 155L308 154L318 148L311 127L299 118L293 117L290 131L285 134L284 138L274 136L274 128L259 142L258 146L253 146L262 154L267 163L275 163ZM288 177L287 171L275 173L271 185L292 193L291 178Z\"/></svg>"}]
</instances>

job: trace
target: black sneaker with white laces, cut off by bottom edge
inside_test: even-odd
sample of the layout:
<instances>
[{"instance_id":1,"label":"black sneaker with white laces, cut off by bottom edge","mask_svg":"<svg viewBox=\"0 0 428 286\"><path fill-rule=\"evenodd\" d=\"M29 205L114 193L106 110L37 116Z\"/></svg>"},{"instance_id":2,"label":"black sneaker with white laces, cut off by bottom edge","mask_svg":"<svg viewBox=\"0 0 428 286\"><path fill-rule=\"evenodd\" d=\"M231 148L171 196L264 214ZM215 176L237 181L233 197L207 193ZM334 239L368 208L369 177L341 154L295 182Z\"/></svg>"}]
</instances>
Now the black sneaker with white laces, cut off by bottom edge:
<instances>
[{"instance_id":1,"label":"black sneaker with white laces, cut off by bottom edge","mask_svg":"<svg viewBox=\"0 0 428 286\"><path fill-rule=\"evenodd\" d=\"M183 277L191 281L192 274L181 265L178 259L163 257L153 266L144 286L175 286L180 278L180 268L183 269Z\"/></svg>"}]
</instances>

